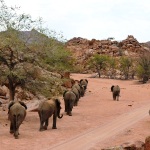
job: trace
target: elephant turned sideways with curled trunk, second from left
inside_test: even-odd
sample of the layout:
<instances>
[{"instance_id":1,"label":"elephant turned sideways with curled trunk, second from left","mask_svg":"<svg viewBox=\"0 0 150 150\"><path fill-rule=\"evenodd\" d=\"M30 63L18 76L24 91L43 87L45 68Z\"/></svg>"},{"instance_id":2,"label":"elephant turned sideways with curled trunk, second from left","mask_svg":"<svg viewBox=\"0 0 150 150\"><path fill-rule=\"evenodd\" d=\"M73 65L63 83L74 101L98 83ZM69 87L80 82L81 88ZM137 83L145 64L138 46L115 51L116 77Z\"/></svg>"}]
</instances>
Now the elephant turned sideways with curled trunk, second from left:
<instances>
[{"instance_id":1,"label":"elephant turned sideways with curled trunk, second from left","mask_svg":"<svg viewBox=\"0 0 150 150\"><path fill-rule=\"evenodd\" d=\"M60 105L61 105L60 100L57 98L48 99L39 104L39 107L38 107L38 114L39 114L39 118L40 118L39 131L47 130L47 127L49 124L49 118L52 115L53 115L52 129L57 129L57 127L56 127L57 117L59 119L61 119L63 117L63 114L60 116L60 110L61 110Z\"/></svg>"}]
</instances>

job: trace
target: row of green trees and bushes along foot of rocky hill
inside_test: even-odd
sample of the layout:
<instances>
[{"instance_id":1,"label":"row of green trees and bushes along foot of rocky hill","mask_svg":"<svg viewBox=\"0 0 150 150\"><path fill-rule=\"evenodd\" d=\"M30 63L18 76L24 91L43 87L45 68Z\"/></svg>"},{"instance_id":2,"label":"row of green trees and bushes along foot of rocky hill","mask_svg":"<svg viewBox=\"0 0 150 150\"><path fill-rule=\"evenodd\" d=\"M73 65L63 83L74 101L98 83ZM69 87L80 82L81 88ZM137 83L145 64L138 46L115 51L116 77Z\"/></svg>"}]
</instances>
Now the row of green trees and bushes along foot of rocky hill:
<instances>
[{"instance_id":1,"label":"row of green trees and bushes along foot of rocky hill","mask_svg":"<svg viewBox=\"0 0 150 150\"><path fill-rule=\"evenodd\" d=\"M125 80L134 79L136 75L143 83L146 83L150 78L150 53L140 55L138 59L95 54L90 57L88 65L89 69L97 72L99 78L102 73L114 78L117 71Z\"/></svg>"}]
</instances>

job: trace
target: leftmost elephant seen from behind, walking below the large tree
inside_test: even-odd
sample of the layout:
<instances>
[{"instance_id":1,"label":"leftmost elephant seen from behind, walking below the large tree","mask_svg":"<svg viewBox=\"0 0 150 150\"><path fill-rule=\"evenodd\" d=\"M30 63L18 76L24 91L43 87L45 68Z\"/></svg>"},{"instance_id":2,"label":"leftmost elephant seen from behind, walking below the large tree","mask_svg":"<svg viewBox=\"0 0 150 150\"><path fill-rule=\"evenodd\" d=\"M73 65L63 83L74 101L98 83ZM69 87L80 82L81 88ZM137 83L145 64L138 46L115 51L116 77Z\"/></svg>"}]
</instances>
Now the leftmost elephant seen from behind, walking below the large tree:
<instances>
[{"instance_id":1,"label":"leftmost elephant seen from behind, walking below the large tree","mask_svg":"<svg viewBox=\"0 0 150 150\"><path fill-rule=\"evenodd\" d=\"M8 118L10 120L10 133L18 139L19 127L26 117L27 106L21 101L11 101L8 105Z\"/></svg>"}]
</instances>

